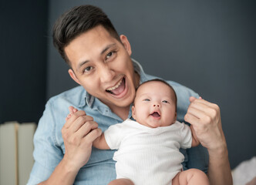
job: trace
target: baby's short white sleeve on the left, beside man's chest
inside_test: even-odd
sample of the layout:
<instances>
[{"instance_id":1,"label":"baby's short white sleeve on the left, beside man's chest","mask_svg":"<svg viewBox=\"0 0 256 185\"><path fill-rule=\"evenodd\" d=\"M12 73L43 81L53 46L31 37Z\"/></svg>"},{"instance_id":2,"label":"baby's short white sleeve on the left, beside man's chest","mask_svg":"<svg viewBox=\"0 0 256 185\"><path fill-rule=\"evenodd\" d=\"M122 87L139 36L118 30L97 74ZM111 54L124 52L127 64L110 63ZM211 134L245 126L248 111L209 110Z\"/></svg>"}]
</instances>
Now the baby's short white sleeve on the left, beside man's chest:
<instances>
[{"instance_id":1,"label":"baby's short white sleeve on the left, beside man's chest","mask_svg":"<svg viewBox=\"0 0 256 185\"><path fill-rule=\"evenodd\" d=\"M123 126L122 123L118 123L113 126L109 126L104 132L106 143L111 150L119 149L120 143L123 139Z\"/></svg>"}]
</instances>

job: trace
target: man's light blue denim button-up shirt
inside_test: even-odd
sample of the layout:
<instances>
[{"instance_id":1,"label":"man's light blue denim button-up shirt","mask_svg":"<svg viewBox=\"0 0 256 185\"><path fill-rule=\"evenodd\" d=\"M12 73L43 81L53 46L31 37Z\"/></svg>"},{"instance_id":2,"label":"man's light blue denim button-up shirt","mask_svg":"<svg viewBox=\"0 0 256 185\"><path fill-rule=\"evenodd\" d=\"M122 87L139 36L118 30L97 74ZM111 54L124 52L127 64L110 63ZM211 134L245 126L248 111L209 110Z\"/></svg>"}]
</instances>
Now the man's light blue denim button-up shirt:
<instances>
[{"instance_id":1,"label":"man's light blue denim button-up shirt","mask_svg":"<svg viewBox=\"0 0 256 185\"><path fill-rule=\"evenodd\" d=\"M133 66L134 70L140 74L140 83L157 78L145 74L139 62L135 60L133 60ZM184 122L184 115L187 113L190 104L189 97L198 97L198 95L177 82L167 82L170 83L170 86L173 86L177 93L177 120ZM103 131L113 124L123 122L123 119L116 116L108 106L96 97L86 93L83 86L77 86L49 99L34 136L35 150L33 156L35 163L30 173L29 185L47 180L62 160L65 146L61 130L64 123L66 123L66 116L69 114L69 106L83 109L87 115L93 116L94 121L99 124L99 128ZM131 116L130 109L128 117L131 118ZM93 148L88 163L79 170L74 184L106 185L111 180L116 179L116 162L113 161L115 151ZM184 170L197 168L205 173L207 172L208 153L203 146L180 151L185 156Z\"/></svg>"}]
</instances>

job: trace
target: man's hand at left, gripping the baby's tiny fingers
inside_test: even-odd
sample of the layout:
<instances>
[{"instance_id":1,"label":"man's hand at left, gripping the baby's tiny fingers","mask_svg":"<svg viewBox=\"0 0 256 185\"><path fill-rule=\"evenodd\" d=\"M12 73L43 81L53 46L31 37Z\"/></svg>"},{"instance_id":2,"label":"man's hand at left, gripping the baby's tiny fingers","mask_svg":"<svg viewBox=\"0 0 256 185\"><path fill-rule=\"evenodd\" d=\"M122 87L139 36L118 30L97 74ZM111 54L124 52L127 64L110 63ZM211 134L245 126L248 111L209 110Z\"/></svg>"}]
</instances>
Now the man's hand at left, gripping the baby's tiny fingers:
<instances>
[{"instance_id":1,"label":"man's hand at left, gripping the baby's tiny fingers","mask_svg":"<svg viewBox=\"0 0 256 185\"><path fill-rule=\"evenodd\" d=\"M79 170L89 160L93 141L101 134L93 117L87 116L83 110L69 107L69 116L62 127L66 153L63 160L73 170Z\"/></svg>"}]
</instances>

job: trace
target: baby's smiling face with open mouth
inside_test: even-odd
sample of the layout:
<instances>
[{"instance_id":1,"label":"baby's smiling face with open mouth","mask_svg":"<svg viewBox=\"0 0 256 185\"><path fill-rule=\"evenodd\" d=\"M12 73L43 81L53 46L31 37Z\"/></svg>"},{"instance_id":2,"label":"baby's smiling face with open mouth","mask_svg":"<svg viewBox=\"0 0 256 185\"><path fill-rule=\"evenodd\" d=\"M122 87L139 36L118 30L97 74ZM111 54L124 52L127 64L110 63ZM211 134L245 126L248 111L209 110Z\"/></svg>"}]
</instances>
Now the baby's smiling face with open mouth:
<instances>
[{"instance_id":1,"label":"baby's smiling face with open mouth","mask_svg":"<svg viewBox=\"0 0 256 185\"><path fill-rule=\"evenodd\" d=\"M163 82L147 82L136 91L133 118L144 126L170 126L176 121L173 90Z\"/></svg>"}]
</instances>

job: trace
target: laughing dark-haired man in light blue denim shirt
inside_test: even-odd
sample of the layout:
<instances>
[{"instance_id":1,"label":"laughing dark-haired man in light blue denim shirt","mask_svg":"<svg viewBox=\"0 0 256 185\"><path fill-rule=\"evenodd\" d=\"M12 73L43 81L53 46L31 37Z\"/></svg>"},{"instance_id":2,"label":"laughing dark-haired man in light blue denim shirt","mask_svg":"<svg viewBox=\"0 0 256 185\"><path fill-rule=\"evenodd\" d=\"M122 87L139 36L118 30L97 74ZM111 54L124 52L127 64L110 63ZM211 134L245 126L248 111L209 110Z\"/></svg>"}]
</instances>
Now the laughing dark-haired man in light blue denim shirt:
<instances>
[{"instance_id":1,"label":"laughing dark-haired man in light blue denim shirt","mask_svg":"<svg viewBox=\"0 0 256 185\"><path fill-rule=\"evenodd\" d=\"M70 66L69 75L81 86L46 104L35 133L29 184L107 184L116 178L114 151L92 148L93 140L99 128L104 131L130 118L136 87L156 77L145 74L130 58L126 36L119 36L105 13L94 6L75 7L62 15L54 26L53 41ZM207 172L208 152L211 184L231 184L218 106L196 99L198 95L187 87L167 82L177 93L177 119L192 124L207 148L183 151L184 170L196 167ZM65 123L69 106L79 111Z\"/></svg>"}]
</instances>

